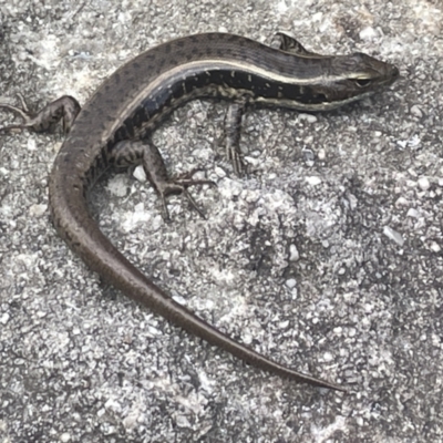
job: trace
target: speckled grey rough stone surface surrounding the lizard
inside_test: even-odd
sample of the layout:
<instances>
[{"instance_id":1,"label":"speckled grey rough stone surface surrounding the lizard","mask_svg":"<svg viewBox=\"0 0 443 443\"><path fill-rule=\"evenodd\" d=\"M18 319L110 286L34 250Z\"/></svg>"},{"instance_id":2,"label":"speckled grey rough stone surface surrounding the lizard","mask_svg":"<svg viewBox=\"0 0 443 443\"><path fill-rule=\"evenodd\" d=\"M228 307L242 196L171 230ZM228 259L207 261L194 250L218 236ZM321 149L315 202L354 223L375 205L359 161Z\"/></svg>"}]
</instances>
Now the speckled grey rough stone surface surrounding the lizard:
<instances>
[{"instance_id":1,"label":"speckled grey rough stone surface surrounding the lizard","mask_svg":"<svg viewBox=\"0 0 443 443\"><path fill-rule=\"evenodd\" d=\"M437 442L442 423L443 33L437 1L10 1L0 101L84 103L141 51L195 32L320 53L362 51L402 79L308 115L257 110L224 159L224 103L189 103L155 134L171 171L218 187L172 224L146 184L109 175L102 229L179 302L272 359L347 385L245 367L99 280L53 230L61 134L0 136L0 441ZM0 122L12 116L0 113Z\"/></svg>"}]
</instances>

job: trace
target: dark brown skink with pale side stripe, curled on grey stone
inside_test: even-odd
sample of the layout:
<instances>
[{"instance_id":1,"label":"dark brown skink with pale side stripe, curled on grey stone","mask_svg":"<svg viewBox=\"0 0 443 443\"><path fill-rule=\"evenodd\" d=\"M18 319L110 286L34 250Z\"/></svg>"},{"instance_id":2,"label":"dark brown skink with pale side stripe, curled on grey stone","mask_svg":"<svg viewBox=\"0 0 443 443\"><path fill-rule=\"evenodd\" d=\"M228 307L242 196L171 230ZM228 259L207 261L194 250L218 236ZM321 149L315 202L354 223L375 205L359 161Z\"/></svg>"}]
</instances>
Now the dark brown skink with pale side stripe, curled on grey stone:
<instances>
[{"instance_id":1,"label":"dark brown skink with pale side stripe, curled on grey stone","mask_svg":"<svg viewBox=\"0 0 443 443\"><path fill-rule=\"evenodd\" d=\"M399 76L395 66L362 53L320 55L279 33L272 49L244 37L206 33L173 40L151 49L112 74L80 110L63 96L40 113L1 104L23 119L4 126L44 131L63 121L68 134L50 176L49 195L59 235L85 264L127 297L159 313L212 344L244 361L281 377L344 391L344 388L274 362L222 333L175 302L138 271L102 234L87 208L87 194L110 167L143 165L156 188L165 218L166 197L183 193L203 215L188 186L209 183L169 178L150 135L185 102L199 97L233 102L226 119L227 151L234 172L245 169L238 150L240 121L251 104L302 111L327 111L360 100Z\"/></svg>"}]
</instances>

